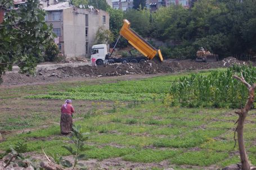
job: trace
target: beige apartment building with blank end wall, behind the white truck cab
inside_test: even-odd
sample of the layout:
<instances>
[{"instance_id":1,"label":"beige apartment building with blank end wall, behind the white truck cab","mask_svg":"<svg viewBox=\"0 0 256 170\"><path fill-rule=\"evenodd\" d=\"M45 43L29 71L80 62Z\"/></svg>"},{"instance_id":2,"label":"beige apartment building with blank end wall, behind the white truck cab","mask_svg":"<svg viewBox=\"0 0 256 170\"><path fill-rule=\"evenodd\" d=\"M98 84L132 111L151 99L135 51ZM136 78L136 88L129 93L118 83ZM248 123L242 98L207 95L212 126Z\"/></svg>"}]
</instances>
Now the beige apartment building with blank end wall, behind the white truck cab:
<instances>
[{"instance_id":1,"label":"beige apartment building with blank end wall, behind the white truck cab","mask_svg":"<svg viewBox=\"0 0 256 170\"><path fill-rule=\"evenodd\" d=\"M66 57L89 56L98 27L109 29L109 13L102 10L75 8L68 2L43 8L46 23L57 35L55 43Z\"/></svg>"}]
</instances>

